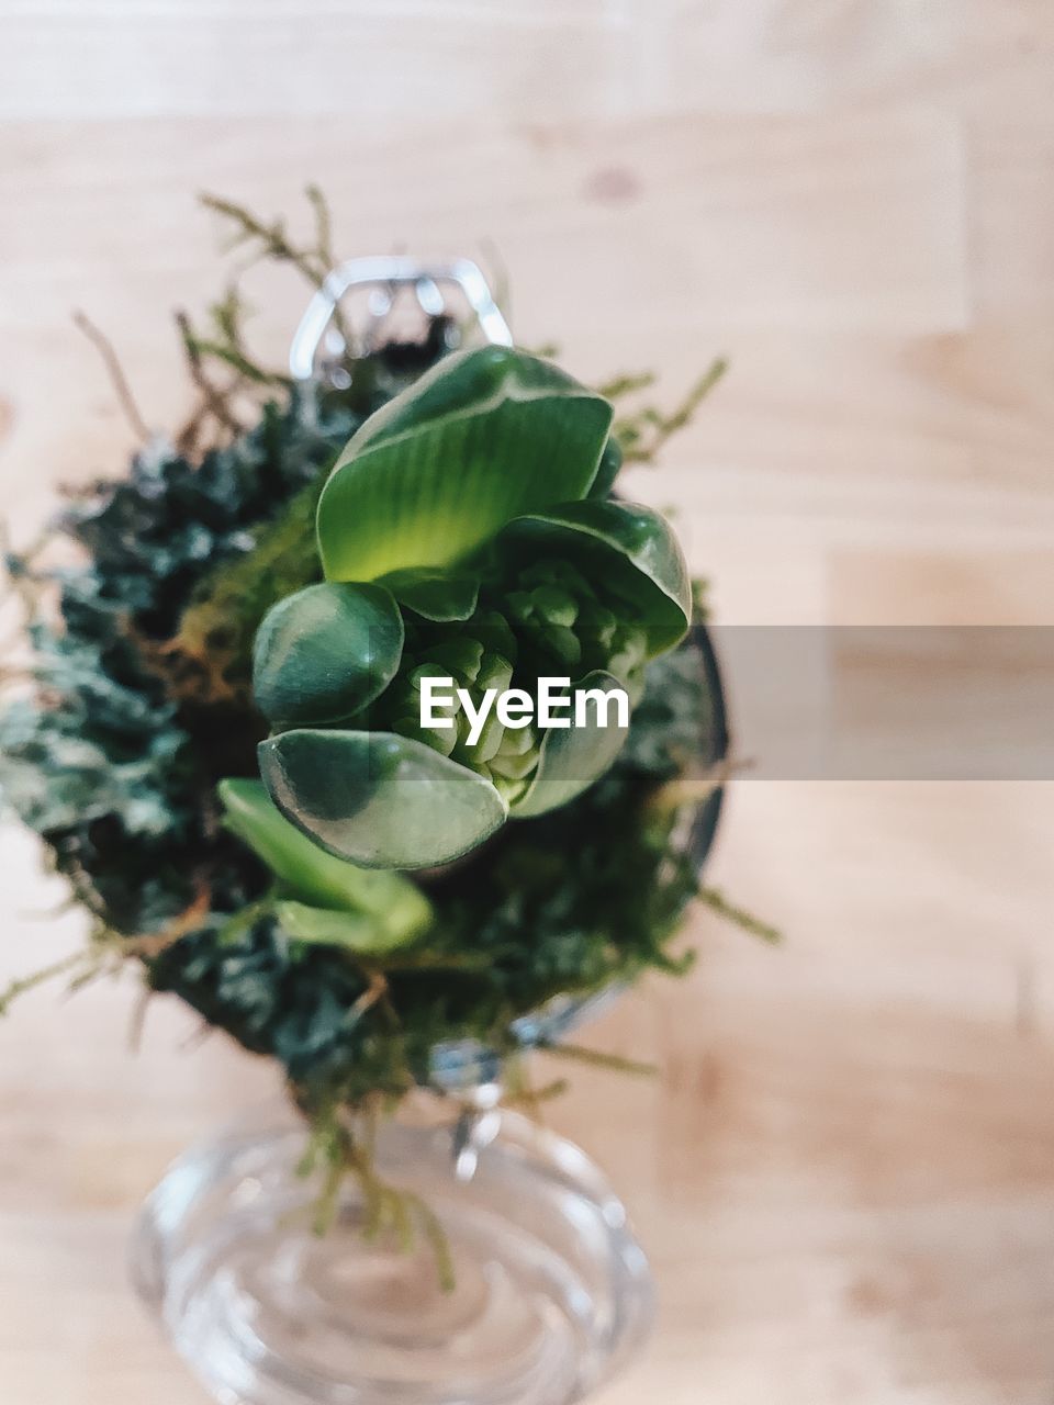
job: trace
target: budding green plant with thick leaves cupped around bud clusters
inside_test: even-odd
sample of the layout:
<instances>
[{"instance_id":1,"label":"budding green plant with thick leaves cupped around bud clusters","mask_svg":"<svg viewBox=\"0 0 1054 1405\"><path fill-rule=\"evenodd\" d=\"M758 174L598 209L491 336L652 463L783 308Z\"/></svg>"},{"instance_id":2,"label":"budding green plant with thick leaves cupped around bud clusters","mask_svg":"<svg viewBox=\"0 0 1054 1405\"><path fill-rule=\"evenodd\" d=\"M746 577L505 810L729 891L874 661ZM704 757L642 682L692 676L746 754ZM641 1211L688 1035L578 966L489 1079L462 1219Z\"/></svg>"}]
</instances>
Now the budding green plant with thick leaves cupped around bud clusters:
<instances>
[{"instance_id":1,"label":"budding green plant with thick leaves cupped around bud clusters","mask_svg":"<svg viewBox=\"0 0 1054 1405\"><path fill-rule=\"evenodd\" d=\"M604 725L597 693L638 698L691 614L665 520L606 496L611 414L548 362L483 347L441 361L339 457L318 507L325 579L268 611L253 660L264 785L330 854L444 864L611 766L625 726ZM568 679L575 725L472 725L488 690L534 695L545 677ZM434 725L427 679L462 690Z\"/></svg>"}]
</instances>

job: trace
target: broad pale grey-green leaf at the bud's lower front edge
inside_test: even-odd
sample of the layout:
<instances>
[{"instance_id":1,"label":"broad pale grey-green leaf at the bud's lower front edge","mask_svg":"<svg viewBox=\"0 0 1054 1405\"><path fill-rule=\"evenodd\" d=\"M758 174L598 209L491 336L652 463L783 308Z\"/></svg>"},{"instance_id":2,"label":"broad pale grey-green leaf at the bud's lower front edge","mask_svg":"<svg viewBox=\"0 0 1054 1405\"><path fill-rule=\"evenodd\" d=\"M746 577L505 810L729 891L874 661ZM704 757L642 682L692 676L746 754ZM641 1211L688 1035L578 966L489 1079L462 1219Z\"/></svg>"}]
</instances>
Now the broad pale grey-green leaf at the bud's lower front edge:
<instances>
[{"instance_id":1,"label":"broad pale grey-green leaf at the bud's lower front edge","mask_svg":"<svg viewBox=\"0 0 1054 1405\"><path fill-rule=\"evenodd\" d=\"M260 743L260 773L294 825L371 868L448 863L507 813L482 776L391 732L284 732Z\"/></svg>"}]
</instances>

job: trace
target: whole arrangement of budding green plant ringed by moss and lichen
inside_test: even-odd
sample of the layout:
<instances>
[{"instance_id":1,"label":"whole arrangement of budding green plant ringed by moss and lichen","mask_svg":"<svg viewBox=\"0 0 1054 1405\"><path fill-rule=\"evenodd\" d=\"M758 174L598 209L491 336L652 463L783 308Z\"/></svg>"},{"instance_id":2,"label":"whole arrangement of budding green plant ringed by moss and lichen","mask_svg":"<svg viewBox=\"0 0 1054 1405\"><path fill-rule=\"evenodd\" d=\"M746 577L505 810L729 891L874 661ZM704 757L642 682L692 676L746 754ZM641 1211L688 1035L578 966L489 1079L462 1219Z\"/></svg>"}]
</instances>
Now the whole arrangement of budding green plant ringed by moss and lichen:
<instances>
[{"instance_id":1,"label":"whole arrangement of budding green plant ringed by moss and lichen","mask_svg":"<svg viewBox=\"0 0 1054 1405\"><path fill-rule=\"evenodd\" d=\"M306 247L211 204L319 285L311 197ZM180 318L187 424L7 555L32 656L6 679L0 780L91 936L0 1009L135 962L284 1068L326 1168L319 1225L346 1173L379 1224L401 1211L371 1127L443 1086L443 1050L490 1051L533 1102L526 1044L583 1057L527 1020L552 998L683 972L693 899L769 934L698 877L727 750L701 589L617 492L720 367L672 414L630 413L649 378L587 389L436 313L415 337L344 327L340 374L294 384L243 323L236 284L208 332ZM482 714L551 676L568 710L620 687L628 726L599 704L568 728ZM440 679L462 701L429 725Z\"/></svg>"}]
</instances>

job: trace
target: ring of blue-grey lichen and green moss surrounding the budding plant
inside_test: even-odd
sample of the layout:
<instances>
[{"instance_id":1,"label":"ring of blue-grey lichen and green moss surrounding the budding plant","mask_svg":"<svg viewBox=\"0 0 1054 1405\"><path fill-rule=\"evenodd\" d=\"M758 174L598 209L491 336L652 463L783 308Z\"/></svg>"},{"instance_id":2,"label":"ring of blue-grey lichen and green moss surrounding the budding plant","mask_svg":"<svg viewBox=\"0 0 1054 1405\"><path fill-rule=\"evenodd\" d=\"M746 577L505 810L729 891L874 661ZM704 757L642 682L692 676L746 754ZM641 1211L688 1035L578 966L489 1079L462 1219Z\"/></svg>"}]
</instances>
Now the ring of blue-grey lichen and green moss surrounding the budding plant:
<instances>
[{"instance_id":1,"label":"ring of blue-grey lichen and green moss surrounding the budding plant","mask_svg":"<svg viewBox=\"0 0 1054 1405\"><path fill-rule=\"evenodd\" d=\"M156 649L202 610L252 639L260 597L238 583L252 582L256 551L281 558L273 544L288 545L288 524L316 493L305 465L325 475L347 433L346 410L319 410L297 395L197 466L159 450L138 455L126 479L98 485L60 524L89 551L82 569L56 576L13 558L22 589L41 597L38 691L8 704L0 724L8 802L80 899L128 934L129 953L143 954L143 933L169 932L204 885L204 916L145 954L150 985L278 1059L312 1106L405 1092L427 1079L437 1043L510 1048L512 1021L551 995L679 969L668 943L697 889L696 865L669 819L649 818L646 797L693 757L707 764L717 745L698 656L683 646L649 667L625 747L599 785L429 881L436 917L419 955L368 960L291 934L270 898L273 861L218 825L214 801L239 753L239 784L259 784L253 743L264 722L238 691L184 691ZM266 573L281 593L282 573ZM44 599L53 589L56 624ZM371 993L378 961L382 998Z\"/></svg>"}]
</instances>

